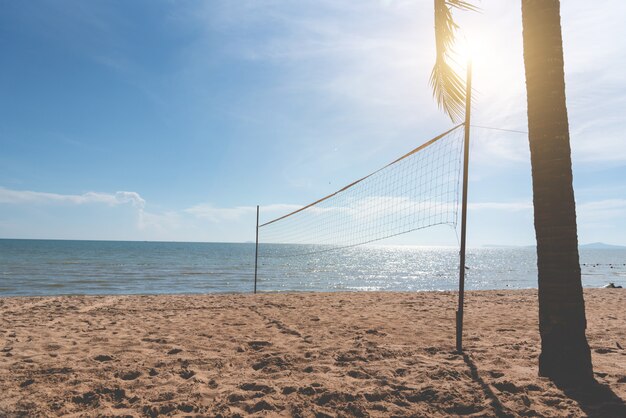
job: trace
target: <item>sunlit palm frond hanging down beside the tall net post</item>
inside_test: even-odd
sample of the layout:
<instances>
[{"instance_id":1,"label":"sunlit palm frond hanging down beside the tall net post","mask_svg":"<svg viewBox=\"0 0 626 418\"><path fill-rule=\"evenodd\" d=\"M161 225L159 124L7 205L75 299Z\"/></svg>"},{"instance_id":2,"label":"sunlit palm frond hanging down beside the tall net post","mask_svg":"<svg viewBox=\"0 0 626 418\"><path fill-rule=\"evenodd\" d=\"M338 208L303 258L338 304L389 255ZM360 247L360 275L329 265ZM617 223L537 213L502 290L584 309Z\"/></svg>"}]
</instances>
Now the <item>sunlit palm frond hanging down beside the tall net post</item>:
<instances>
[{"instance_id":1,"label":"sunlit palm frond hanging down beside the tall net post","mask_svg":"<svg viewBox=\"0 0 626 418\"><path fill-rule=\"evenodd\" d=\"M437 57L430 75L430 85L437 105L452 122L459 122L465 113L465 85L450 66L449 59L458 25L451 9L478 11L478 7L463 0L435 0L435 46Z\"/></svg>"}]
</instances>

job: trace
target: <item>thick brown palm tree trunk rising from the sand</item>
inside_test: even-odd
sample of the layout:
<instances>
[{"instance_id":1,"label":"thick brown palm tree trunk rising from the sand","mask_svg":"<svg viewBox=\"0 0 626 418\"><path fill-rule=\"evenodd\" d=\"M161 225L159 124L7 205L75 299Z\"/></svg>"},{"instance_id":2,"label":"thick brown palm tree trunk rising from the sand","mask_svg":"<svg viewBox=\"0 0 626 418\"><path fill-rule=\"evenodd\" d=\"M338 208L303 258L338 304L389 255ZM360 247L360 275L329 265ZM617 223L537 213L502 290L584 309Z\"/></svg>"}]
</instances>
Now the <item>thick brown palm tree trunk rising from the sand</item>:
<instances>
[{"instance_id":1,"label":"thick brown palm tree trunk rising from the sand","mask_svg":"<svg viewBox=\"0 0 626 418\"><path fill-rule=\"evenodd\" d=\"M578 258L558 0L522 0L539 270L539 375L593 377Z\"/></svg>"}]
</instances>

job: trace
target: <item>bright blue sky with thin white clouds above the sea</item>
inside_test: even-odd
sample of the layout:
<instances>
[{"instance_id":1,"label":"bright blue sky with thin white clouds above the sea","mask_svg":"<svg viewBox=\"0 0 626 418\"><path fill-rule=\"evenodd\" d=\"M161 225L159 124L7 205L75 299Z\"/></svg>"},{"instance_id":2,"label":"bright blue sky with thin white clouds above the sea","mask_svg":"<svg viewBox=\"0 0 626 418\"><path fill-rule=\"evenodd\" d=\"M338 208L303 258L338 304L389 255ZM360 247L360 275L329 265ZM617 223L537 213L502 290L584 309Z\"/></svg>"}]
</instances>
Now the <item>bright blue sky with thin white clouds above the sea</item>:
<instances>
[{"instance_id":1,"label":"bright blue sky with thin white clouds above the sea","mask_svg":"<svg viewBox=\"0 0 626 418\"><path fill-rule=\"evenodd\" d=\"M0 237L254 239L449 129L432 1L1 1ZM518 1L458 14L476 125L526 130ZM582 243L626 244L626 4L562 2ZM527 138L475 128L468 242L534 242ZM394 241L456 243L434 229Z\"/></svg>"}]
</instances>

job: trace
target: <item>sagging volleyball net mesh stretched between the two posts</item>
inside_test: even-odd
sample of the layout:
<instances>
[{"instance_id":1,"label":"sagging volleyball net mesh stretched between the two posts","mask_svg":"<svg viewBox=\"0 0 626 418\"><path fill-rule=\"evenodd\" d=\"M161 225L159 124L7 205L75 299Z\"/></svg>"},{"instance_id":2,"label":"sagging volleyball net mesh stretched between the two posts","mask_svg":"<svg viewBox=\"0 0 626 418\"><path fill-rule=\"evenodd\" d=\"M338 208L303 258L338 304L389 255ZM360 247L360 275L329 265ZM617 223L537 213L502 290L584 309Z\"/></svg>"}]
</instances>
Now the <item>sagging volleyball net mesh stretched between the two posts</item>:
<instances>
[{"instance_id":1,"label":"sagging volleyball net mesh stretched between the two posts","mask_svg":"<svg viewBox=\"0 0 626 418\"><path fill-rule=\"evenodd\" d=\"M457 225L462 125L303 208L259 225L259 256L366 244L434 225ZM300 244L300 245L293 245Z\"/></svg>"}]
</instances>

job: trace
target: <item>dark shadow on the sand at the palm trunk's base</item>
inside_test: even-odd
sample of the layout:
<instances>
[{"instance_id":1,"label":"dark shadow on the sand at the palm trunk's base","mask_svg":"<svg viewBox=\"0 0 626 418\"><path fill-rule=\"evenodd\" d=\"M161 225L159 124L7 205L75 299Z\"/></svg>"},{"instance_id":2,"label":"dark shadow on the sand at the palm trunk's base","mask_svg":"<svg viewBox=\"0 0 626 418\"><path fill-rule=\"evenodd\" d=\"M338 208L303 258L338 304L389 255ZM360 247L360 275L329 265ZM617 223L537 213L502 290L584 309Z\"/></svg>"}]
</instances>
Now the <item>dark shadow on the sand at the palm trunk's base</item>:
<instances>
[{"instance_id":1,"label":"dark shadow on the sand at the palm trunk's base","mask_svg":"<svg viewBox=\"0 0 626 418\"><path fill-rule=\"evenodd\" d=\"M609 386L598 383L595 379L575 387L558 382L555 384L591 418L626 417L624 400Z\"/></svg>"}]
</instances>

